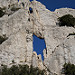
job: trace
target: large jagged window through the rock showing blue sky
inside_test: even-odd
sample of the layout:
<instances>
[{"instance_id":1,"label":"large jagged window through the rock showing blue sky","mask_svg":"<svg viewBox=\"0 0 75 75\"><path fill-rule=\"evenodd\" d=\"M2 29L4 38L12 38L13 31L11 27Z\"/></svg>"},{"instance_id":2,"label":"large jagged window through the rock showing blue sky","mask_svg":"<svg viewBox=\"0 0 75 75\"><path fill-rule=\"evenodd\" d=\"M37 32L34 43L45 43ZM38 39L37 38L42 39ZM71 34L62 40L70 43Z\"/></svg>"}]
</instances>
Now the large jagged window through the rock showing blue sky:
<instances>
[{"instance_id":1,"label":"large jagged window through the rock showing blue sky","mask_svg":"<svg viewBox=\"0 0 75 75\"><path fill-rule=\"evenodd\" d=\"M33 51L37 53L37 55L41 54L42 60L44 60L43 50L46 49L45 40L42 38L33 35Z\"/></svg>"}]
</instances>

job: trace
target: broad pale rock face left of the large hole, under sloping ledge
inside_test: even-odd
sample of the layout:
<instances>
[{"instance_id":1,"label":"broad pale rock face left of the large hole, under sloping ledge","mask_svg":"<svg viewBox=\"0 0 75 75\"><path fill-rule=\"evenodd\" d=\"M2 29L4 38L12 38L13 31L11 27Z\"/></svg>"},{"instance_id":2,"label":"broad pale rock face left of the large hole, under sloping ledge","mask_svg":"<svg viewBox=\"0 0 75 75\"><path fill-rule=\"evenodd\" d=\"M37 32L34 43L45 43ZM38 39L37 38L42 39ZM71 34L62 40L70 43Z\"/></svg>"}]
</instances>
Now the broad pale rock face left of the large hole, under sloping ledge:
<instances>
[{"instance_id":1,"label":"broad pale rock face left of the large hole, under sloping ledge","mask_svg":"<svg viewBox=\"0 0 75 75\"><path fill-rule=\"evenodd\" d=\"M15 64L31 63L33 26L28 21L28 11L28 9L26 11L20 9L12 15L3 16L0 19L0 35L8 37L0 45L2 64L11 65L13 60Z\"/></svg>"}]
</instances>

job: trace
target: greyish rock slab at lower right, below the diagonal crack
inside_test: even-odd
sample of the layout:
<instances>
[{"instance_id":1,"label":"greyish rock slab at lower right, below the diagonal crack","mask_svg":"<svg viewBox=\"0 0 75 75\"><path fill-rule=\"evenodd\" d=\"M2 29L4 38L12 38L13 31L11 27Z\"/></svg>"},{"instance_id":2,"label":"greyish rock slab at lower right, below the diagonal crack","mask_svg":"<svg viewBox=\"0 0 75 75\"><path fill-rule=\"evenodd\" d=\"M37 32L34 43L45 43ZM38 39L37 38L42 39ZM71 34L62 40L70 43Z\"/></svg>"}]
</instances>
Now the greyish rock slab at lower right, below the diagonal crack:
<instances>
[{"instance_id":1,"label":"greyish rock slab at lower right, below the diagonal crack","mask_svg":"<svg viewBox=\"0 0 75 75\"><path fill-rule=\"evenodd\" d=\"M55 48L52 55L44 60L45 65L52 71L61 75L64 63L75 64L75 37L70 36Z\"/></svg>"}]
</instances>

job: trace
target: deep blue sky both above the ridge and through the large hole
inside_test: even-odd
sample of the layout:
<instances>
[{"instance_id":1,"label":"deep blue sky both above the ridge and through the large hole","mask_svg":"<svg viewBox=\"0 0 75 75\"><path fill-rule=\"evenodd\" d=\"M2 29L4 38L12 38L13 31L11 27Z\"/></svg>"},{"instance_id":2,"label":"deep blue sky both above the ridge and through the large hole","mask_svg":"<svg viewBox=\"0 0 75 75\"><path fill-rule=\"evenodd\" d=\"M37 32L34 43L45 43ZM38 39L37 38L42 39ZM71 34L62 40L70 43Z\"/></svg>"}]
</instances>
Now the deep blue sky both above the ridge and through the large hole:
<instances>
[{"instance_id":1,"label":"deep blue sky both above the ridge and through the large hole","mask_svg":"<svg viewBox=\"0 0 75 75\"><path fill-rule=\"evenodd\" d=\"M31 0L33 1L33 0ZM59 8L73 8L75 9L75 0L37 0L44 4L47 9L50 11L54 11ZM35 35L33 35L33 50L37 52L37 54L42 55L43 58L43 50L46 48L44 39L39 39Z\"/></svg>"}]
</instances>

